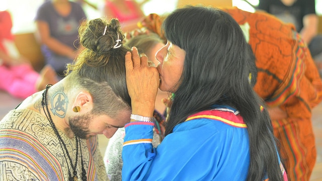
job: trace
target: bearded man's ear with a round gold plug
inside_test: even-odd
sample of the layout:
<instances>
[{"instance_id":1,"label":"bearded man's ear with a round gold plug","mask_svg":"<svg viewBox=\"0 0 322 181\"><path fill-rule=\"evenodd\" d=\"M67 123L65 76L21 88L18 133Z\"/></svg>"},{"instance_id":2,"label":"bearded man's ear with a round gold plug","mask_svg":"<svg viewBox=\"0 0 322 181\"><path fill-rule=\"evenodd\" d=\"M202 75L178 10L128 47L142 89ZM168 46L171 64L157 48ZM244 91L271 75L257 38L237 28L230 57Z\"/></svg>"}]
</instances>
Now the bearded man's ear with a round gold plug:
<instances>
[{"instance_id":1,"label":"bearded man's ear with a round gold plug","mask_svg":"<svg viewBox=\"0 0 322 181\"><path fill-rule=\"evenodd\" d=\"M89 112L93 109L93 98L92 95L87 91L79 92L75 101L72 105L73 112Z\"/></svg>"}]
</instances>

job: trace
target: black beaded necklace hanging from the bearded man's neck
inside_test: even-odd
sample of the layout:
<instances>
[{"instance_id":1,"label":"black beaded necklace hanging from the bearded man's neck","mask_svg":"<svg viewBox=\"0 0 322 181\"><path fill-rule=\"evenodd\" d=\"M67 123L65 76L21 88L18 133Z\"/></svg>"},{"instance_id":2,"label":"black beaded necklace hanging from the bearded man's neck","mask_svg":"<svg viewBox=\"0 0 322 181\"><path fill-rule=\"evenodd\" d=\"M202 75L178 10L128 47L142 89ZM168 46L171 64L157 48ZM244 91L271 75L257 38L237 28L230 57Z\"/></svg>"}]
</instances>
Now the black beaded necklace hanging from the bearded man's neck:
<instances>
[{"instance_id":1,"label":"black beaded necklace hanging from the bearded man's neck","mask_svg":"<svg viewBox=\"0 0 322 181\"><path fill-rule=\"evenodd\" d=\"M77 166L77 160L78 160L78 144L79 144L79 147L80 147L80 152L81 152L81 161L82 161L82 180L83 181L86 181L87 180L87 176L86 176L86 170L84 168L84 163L83 163L83 155L82 155L82 145L81 145L81 142L79 141L78 137L75 136L75 140L76 140L76 160L75 160L75 165L72 165L72 160L71 160L71 157L69 155L69 152L67 150L67 147L66 147L66 144L64 142L64 140L62 140L61 136L59 135L58 133L58 130L54 124L54 122L52 121L52 118L51 118L51 115L50 115L50 112L49 112L49 109L48 109L48 104L47 104L47 92L48 92L48 89L49 87L51 87L52 84L48 84L46 85L46 89L45 91L43 92L42 94L42 108L44 110L44 113L52 127L52 129L54 130L58 140L59 140L59 144L60 144L60 147L63 151L63 154L64 154L64 157L66 159L66 163L67 163L67 167L68 167L68 180L69 181L77 181L77 171L76 171L76 166ZM46 107L46 111L45 111L45 107ZM67 158L66 158L66 155L69 159L69 162L70 162L70 167L73 169L73 176L71 176L71 172L70 172L70 169L69 169L69 165L68 165L68 161L67 161Z\"/></svg>"}]
</instances>

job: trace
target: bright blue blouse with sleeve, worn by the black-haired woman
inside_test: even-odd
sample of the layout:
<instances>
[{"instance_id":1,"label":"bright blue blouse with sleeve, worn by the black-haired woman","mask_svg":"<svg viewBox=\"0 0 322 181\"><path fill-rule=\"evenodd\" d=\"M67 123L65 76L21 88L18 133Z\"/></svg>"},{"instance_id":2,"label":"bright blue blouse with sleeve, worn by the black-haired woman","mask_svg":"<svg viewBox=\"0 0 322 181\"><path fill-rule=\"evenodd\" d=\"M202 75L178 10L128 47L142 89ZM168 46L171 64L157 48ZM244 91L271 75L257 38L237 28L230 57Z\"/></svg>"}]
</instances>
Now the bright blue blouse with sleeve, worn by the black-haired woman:
<instances>
[{"instance_id":1,"label":"bright blue blouse with sleeve, worn by the black-haired woman","mask_svg":"<svg viewBox=\"0 0 322 181\"><path fill-rule=\"evenodd\" d=\"M177 125L157 148L150 143L152 129L145 122L126 125L122 180L246 179L247 129L208 119L187 121Z\"/></svg>"}]
</instances>

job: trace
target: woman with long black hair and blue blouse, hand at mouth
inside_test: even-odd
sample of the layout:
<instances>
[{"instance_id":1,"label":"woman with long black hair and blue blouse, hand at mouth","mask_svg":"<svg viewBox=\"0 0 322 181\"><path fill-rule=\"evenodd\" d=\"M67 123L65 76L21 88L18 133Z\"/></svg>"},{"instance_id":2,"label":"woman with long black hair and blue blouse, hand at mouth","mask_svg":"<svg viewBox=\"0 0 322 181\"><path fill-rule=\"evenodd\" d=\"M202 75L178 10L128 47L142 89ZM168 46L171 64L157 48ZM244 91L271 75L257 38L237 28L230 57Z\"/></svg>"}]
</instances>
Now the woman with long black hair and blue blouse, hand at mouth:
<instances>
[{"instance_id":1,"label":"woman with long black hair and blue blouse, hand at mouth","mask_svg":"<svg viewBox=\"0 0 322 181\"><path fill-rule=\"evenodd\" d=\"M239 25L221 10L186 7L163 23L167 44L151 63L125 55L131 122L124 180L287 180L256 66ZM166 137L152 147L157 87L174 94Z\"/></svg>"}]
</instances>

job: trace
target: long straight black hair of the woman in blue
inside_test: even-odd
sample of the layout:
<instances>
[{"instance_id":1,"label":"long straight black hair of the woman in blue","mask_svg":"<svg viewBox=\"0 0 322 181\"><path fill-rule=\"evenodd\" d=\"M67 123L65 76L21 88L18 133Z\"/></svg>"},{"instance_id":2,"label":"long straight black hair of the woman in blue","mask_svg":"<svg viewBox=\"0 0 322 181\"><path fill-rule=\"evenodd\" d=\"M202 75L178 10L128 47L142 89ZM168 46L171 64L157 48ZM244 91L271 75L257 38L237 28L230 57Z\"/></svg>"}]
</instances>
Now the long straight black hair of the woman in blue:
<instances>
[{"instance_id":1,"label":"long straight black hair of the woman in blue","mask_svg":"<svg viewBox=\"0 0 322 181\"><path fill-rule=\"evenodd\" d=\"M221 10L188 6L171 13L163 30L170 42L186 51L166 135L189 115L209 110L214 104L231 106L247 124L247 180L263 180L265 174L270 180L283 180L271 120L266 109L261 110L264 102L253 90L254 54L239 25Z\"/></svg>"}]
</instances>

